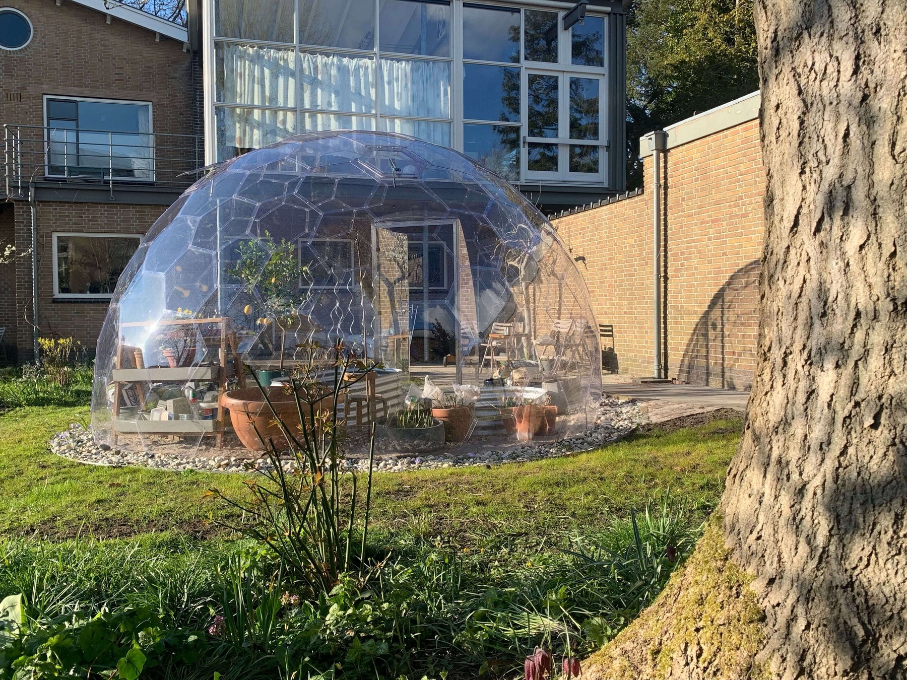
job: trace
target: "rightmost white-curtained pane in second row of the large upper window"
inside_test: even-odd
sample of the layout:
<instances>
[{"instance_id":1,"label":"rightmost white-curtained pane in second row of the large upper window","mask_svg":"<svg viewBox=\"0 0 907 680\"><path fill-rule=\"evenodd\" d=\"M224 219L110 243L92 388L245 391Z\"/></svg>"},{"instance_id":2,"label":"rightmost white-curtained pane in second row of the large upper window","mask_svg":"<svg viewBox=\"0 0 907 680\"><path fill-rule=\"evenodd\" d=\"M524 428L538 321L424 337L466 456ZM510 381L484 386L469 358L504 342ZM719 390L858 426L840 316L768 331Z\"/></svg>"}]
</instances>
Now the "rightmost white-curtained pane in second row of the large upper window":
<instances>
[{"instance_id":1,"label":"rightmost white-curtained pane in second row of the large upper window","mask_svg":"<svg viewBox=\"0 0 907 680\"><path fill-rule=\"evenodd\" d=\"M381 60L381 114L450 118L450 62Z\"/></svg>"}]
</instances>

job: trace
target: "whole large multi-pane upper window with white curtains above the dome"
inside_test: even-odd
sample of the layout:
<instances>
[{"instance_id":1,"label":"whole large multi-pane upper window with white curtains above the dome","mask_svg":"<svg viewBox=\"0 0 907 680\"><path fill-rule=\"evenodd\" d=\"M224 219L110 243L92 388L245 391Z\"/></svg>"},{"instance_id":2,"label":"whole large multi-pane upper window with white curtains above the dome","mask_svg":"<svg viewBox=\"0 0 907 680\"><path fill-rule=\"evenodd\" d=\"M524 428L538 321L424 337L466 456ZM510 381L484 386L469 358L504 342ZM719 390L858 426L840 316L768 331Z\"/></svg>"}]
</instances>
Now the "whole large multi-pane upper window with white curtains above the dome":
<instances>
[{"instance_id":1,"label":"whole large multi-pane upper window with white curtains above the dome","mask_svg":"<svg viewBox=\"0 0 907 680\"><path fill-rule=\"evenodd\" d=\"M219 159L297 132L381 130L514 182L605 180L605 16L565 30L538 4L208 1Z\"/></svg>"}]
</instances>

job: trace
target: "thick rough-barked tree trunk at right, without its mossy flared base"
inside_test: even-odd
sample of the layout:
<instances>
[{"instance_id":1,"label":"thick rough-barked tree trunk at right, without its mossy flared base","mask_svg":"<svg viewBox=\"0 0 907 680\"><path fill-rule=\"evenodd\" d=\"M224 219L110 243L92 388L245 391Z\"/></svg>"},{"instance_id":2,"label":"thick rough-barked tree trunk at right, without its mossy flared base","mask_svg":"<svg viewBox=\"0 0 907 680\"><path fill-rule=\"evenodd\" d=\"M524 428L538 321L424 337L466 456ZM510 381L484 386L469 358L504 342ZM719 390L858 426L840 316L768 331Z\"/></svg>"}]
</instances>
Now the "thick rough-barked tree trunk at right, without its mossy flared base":
<instances>
[{"instance_id":1,"label":"thick rough-barked tree trunk at right, without its mossy flared base","mask_svg":"<svg viewBox=\"0 0 907 680\"><path fill-rule=\"evenodd\" d=\"M722 510L783 678L907 674L905 5L756 0L766 245Z\"/></svg>"}]
</instances>

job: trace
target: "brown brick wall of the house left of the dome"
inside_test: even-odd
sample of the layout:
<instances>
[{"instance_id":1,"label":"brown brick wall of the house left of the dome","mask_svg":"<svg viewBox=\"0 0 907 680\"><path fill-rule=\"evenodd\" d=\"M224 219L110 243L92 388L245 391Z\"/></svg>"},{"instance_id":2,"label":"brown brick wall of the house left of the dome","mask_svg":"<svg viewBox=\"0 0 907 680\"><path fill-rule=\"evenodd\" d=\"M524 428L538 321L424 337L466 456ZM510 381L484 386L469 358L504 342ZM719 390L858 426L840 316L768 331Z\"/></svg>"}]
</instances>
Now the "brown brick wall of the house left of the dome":
<instances>
[{"instance_id":1,"label":"brown brick wall of the house left of the dome","mask_svg":"<svg viewBox=\"0 0 907 680\"><path fill-rule=\"evenodd\" d=\"M0 53L0 89L13 95L0 98L0 124L42 126L44 95L59 95L151 102L153 132L200 132L195 101L200 96L200 71L180 42L165 36L156 41L153 31L116 18L107 24L102 13L67 0L59 6L54 0L5 0L5 5L29 17L34 37L22 50ZM25 174L34 172L40 182L44 180L43 134L23 132L23 136L38 141L23 151ZM195 141L163 137L155 144L159 180L172 180L175 170L196 167ZM160 203L161 198L150 193L148 202ZM142 234L164 208L114 201L38 201L37 326L41 335L72 335L93 348L107 312L103 301L54 301L53 232ZM27 201L6 204L0 212L0 248L13 238L20 252L30 248L31 224ZM0 302L0 325L7 325L7 342L16 345L19 360L28 360L34 323L31 257L0 269L0 292L7 290L4 300L9 302Z\"/></svg>"}]
</instances>

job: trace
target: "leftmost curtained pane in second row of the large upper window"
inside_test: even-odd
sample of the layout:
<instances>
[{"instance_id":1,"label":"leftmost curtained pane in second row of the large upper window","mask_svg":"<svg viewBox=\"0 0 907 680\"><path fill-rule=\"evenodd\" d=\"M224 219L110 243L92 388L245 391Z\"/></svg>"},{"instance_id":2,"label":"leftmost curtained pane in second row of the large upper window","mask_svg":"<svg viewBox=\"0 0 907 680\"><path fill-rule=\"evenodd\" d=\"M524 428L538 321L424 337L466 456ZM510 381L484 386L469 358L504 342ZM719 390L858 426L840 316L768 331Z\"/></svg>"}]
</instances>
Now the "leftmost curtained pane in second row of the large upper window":
<instances>
[{"instance_id":1,"label":"leftmost curtained pane in second row of the large upper window","mask_svg":"<svg viewBox=\"0 0 907 680\"><path fill-rule=\"evenodd\" d=\"M214 100L296 106L296 51L249 44L214 45Z\"/></svg>"}]
</instances>

